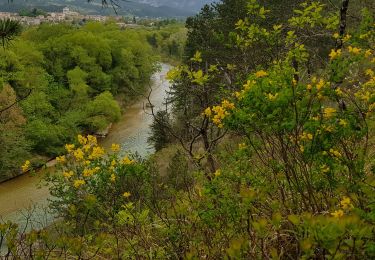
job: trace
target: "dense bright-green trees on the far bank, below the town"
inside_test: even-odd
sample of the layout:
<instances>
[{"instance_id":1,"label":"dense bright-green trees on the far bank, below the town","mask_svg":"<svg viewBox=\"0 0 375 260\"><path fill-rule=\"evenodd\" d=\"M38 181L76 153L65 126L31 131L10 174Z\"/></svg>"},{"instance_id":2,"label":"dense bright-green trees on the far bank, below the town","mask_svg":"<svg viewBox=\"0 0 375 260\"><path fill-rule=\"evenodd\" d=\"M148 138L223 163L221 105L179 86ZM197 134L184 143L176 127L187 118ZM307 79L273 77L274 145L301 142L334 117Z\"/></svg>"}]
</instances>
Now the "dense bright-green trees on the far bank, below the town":
<instances>
[{"instance_id":1,"label":"dense bright-green trees on the far bank, below the town","mask_svg":"<svg viewBox=\"0 0 375 260\"><path fill-rule=\"evenodd\" d=\"M181 55L181 43L171 39L179 25L163 28L46 24L0 49L0 109L24 99L0 114L0 181L19 174L28 157L42 164L77 134L116 122L120 108L148 87L156 55Z\"/></svg>"}]
</instances>

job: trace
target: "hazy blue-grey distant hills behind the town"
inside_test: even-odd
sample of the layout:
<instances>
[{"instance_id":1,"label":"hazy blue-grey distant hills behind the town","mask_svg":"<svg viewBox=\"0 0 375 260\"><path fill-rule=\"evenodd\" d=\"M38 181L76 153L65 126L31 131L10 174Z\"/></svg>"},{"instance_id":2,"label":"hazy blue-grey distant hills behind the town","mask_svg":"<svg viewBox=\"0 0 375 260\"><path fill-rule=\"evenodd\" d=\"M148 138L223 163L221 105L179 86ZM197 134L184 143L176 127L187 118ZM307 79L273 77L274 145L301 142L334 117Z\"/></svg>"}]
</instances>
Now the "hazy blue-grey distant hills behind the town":
<instances>
[{"instance_id":1,"label":"hazy blue-grey distant hills behind the town","mask_svg":"<svg viewBox=\"0 0 375 260\"><path fill-rule=\"evenodd\" d=\"M206 3L214 0L129 0L120 1L119 15L135 15L140 17L183 18L194 15ZM114 14L113 9L103 8L101 0L87 3L86 0L13 0L0 2L0 11L19 12L20 10L38 8L46 12L61 12L68 6L83 14Z\"/></svg>"}]
</instances>

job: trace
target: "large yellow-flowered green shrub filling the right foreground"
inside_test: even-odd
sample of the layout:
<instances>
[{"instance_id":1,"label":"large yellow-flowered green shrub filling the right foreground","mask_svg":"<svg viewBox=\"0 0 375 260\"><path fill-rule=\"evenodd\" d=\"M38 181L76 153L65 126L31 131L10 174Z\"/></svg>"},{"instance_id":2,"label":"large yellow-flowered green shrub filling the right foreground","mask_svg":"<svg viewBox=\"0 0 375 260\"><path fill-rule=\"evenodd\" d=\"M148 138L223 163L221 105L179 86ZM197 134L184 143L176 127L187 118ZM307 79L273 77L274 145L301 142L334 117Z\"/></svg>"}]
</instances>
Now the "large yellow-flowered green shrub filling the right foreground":
<instances>
[{"instance_id":1,"label":"large yellow-flowered green shrub filling the right foreground","mask_svg":"<svg viewBox=\"0 0 375 260\"><path fill-rule=\"evenodd\" d=\"M342 54L352 60L343 60L348 70L361 70L340 85L304 78L288 62L276 63L262 77L251 75L225 121L246 136L241 156L250 158L251 172L238 182L248 183L243 189L256 194L248 206L251 237L270 243L276 255L284 254L286 245L280 243L287 241L279 240L275 248L273 236L298 241L306 258L373 256L368 143L375 92L368 86L375 64L365 52ZM267 213L262 203L272 205Z\"/></svg>"}]
</instances>

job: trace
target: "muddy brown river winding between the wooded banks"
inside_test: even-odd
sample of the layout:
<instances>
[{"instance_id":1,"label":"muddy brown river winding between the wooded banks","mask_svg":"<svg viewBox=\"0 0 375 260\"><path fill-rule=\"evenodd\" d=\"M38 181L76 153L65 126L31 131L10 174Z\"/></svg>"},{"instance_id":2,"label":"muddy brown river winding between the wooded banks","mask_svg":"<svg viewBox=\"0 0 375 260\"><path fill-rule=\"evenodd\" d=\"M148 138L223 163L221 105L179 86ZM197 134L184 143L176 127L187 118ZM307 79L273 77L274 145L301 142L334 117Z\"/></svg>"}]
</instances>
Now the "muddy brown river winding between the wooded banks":
<instances>
[{"instance_id":1,"label":"muddy brown river winding between the wooded banks","mask_svg":"<svg viewBox=\"0 0 375 260\"><path fill-rule=\"evenodd\" d=\"M163 107L167 96L170 84L166 74L170 68L167 64L161 64L161 70L152 77L150 99L155 110ZM153 153L153 148L147 144L153 121L149 115L150 108L146 108L147 103L147 98L142 98L128 107L100 144L109 148L112 143L118 143L124 153L138 153L143 157ZM11 220L22 225L25 223L25 214L33 212L32 220L36 225L49 223L51 216L42 210L47 204L49 192L45 186L38 187L42 178L41 173L35 176L23 175L0 184L0 220Z\"/></svg>"}]
</instances>

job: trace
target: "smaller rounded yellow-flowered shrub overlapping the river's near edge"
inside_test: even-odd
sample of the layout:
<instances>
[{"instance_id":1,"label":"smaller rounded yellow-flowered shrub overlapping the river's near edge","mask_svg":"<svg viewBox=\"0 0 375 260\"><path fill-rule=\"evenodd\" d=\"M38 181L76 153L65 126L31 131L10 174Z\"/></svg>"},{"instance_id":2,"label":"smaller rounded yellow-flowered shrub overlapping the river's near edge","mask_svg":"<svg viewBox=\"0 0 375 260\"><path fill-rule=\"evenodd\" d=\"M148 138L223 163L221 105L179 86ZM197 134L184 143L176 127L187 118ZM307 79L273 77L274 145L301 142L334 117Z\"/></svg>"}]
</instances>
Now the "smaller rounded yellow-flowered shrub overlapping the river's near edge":
<instances>
[{"instance_id":1,"label":"smaller rounded yellow-flowered shrub overlapping the river's near edge","mask_svg":"<svg viewBox=\"0 0 375 260\"><path fill-rule=\"evenodd\" d=\"M59 216L74 221L79 229L92 227L94 221L116 218L130 202L132 185L145 178L145 168L128 156L120 156L120 147L113 144L106 153L94 136L78 136L79 146L65 146L67 154L56 158L59 174L47 180L56 198L51 207Z\"/></svg>"}]
</instances>

